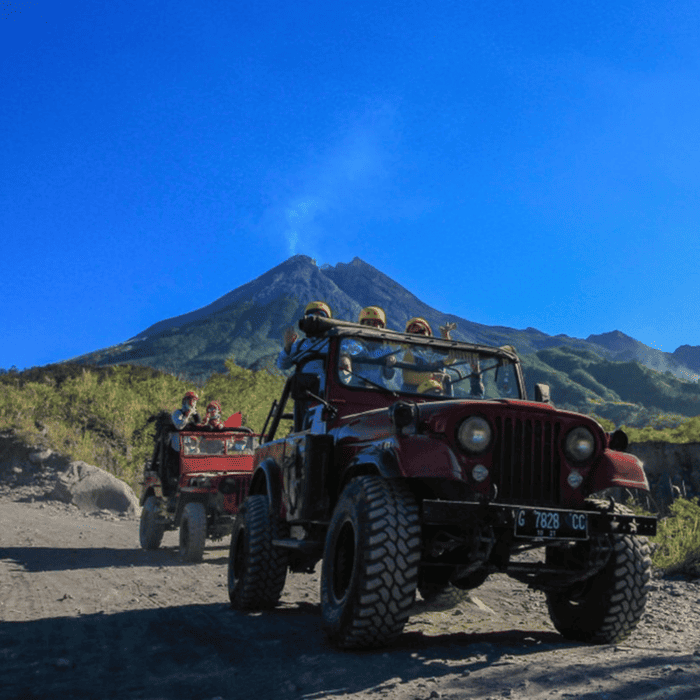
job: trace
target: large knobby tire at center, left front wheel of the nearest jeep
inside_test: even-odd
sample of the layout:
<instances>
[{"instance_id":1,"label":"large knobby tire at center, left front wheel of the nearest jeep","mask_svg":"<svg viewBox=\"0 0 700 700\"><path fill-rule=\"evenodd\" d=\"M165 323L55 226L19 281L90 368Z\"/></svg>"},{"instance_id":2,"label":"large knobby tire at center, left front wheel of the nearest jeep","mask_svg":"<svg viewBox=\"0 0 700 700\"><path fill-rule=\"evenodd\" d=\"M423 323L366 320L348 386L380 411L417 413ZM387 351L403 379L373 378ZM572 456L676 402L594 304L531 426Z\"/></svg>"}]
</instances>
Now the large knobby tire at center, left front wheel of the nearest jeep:
<instances>
[{"instance_id":1,"label":"large knobby tire at center, left front wheel of the nearest jeep","mask_svg":"<svg viewBox=\"0 0 700 700\"><path fill-rule=\"evenodd\" d=\"M353 479L328 527L321 611L341 649L384 646L404 628L416 594L418 506L408 489L377 476Z\"/></svg>"}]
</instances>

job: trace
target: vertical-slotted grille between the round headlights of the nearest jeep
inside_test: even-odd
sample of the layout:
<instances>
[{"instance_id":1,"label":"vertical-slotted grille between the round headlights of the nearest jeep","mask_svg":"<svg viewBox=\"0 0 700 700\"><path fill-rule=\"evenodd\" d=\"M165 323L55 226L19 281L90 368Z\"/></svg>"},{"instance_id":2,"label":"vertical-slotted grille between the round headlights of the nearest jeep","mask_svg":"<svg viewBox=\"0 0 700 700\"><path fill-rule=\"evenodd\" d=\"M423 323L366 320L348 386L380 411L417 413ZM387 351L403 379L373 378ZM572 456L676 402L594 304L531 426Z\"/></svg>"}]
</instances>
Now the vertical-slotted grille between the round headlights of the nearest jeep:
<instances>
[{"instance_id":1,"label":"vertical-slotted grille between the round headlights of the nearest jeep","mask_svg":"<svg viewBox=\"0 0 700 700\"><path fill-rule=\"evenodd\" d=\"M558 423L497 417L493 480L497 501L555 506L560 503Z\"/></svg>"}]
</instances>

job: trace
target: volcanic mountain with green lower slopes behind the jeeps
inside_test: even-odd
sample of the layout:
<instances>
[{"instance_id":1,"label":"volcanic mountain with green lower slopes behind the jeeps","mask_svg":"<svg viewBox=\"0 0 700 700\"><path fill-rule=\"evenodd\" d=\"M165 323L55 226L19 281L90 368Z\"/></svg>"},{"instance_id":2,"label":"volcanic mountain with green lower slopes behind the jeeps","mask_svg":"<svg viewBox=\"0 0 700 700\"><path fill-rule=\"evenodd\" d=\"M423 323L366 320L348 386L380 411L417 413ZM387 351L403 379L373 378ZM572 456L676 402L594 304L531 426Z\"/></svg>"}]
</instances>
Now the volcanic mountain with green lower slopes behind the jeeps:
<instances>
[{"instance_id":1,"label":"volcanic mountain with green lower slopes behind the jeeps","mask_svg":"<svg viewBox=\"0 0 700 700\"><path fill-rule=\"evenodd\" d=\"M428 306L359 258L319 268L311 258L296 255L201 309L159 321L125 343L73 361L145 365L199 383L224 371L229 357L242 367L276 372L284 329L296 326L314 299L326 301L338 318L355 320L363 306L378 304L396 330L403 330L410 317L423 316L436 333L450 321L457 323L453 337L458 340L513 345L523 358L530 393L535 382L548 383L556 403L616 422L648 420L660 412L700 412L698 385L688 381L694 370L680 361L695 361L689 346L676 356L619 331L583 340L535 328L485 326Z\"/></svg>"}]
</instances>

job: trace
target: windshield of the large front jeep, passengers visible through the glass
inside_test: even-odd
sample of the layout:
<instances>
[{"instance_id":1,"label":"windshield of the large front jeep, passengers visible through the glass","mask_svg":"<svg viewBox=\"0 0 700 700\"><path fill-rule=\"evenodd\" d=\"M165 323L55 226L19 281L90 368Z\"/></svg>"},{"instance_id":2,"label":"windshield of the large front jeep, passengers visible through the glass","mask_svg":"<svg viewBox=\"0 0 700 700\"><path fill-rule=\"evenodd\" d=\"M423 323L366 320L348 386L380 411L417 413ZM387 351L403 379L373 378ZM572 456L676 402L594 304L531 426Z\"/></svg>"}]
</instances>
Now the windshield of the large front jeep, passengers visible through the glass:
<instances>
[{"instance_id":1,"label":"windshield of the large front jeep, passengers visible through the glass","mask_svg":"<svg viewBox=\"0 0 700 700\"><path fill-rule=\"evenodd\" d=\"M345 337L337 344L337 379L363 390L430 400L519 399L516 362L504 353L451 342Z\"/></svg>"}]
</instances>

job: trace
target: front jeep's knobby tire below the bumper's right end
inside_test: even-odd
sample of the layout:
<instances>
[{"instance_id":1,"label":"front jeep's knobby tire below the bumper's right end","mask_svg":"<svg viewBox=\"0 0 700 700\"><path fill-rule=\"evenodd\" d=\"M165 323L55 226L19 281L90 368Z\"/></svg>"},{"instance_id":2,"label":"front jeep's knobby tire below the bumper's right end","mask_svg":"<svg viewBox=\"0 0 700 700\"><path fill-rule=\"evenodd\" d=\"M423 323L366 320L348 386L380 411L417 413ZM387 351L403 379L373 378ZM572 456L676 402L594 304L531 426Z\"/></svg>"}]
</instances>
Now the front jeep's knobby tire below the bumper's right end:
<instances>
[{"instance_id":1,"label":"front jeep's knobby tire below the bumper's right end","mask_svg":"<svg viewBox=\"0 0 700 700\"><path fill-rule=\"evenodd\" d=\"M547 592L552 623L567 639L614 644L628 637L644 613L651 549L646 537L613 535L605 567L566 591Z\"/></svg>"}]
</instances>

